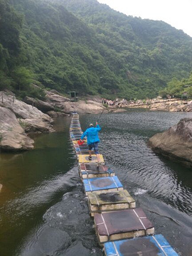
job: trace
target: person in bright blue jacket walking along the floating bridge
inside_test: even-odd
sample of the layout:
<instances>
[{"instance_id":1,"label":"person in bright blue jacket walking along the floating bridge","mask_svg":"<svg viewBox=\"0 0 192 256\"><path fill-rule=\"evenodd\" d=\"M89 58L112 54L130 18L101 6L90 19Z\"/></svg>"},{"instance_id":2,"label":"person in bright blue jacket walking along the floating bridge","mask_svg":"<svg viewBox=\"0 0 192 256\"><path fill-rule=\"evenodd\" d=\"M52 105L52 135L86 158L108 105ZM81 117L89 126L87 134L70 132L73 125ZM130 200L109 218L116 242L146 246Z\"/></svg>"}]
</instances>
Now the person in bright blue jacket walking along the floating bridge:
<instances>
[{"instance_id":1,"label":"person in bright blue jacket walking along the floating bridge","mask_svg":"<svg viewBox=\"0 0 192 256\"><path fill-rule=\"evenodd\" d=\"M86 129L86 131L82 134L80 137L80 141L82 142L82 139L86 136L87 137L87 144L89 147L89 160L91 161L91 151L94 149L95 154L97 155L97 161L98 164L100 163L100 154L98 151L98 143L100 142L98 133L100 132L101 127L96 122L96 127L93 127L93 124L90 124L90 127Z\"/></svg>"}]
</instances>

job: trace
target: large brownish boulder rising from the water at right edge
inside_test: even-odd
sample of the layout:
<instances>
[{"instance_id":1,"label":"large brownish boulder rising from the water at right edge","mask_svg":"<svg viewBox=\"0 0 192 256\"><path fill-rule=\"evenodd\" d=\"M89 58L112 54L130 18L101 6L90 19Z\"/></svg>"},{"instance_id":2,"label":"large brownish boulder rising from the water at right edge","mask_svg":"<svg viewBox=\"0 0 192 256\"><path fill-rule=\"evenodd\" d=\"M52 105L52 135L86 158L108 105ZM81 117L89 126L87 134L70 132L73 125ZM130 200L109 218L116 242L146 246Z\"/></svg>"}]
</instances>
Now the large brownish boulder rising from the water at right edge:
<instances>
[{"instance_id":1,"label":"large brownish boulder rising from the water at right edge","mask_svg":"<svg viewBox=\"0 0 192 256\"><path fill-rule=\"evenodd\" d=\"M149 139L149 146L169 159L192 166L192 119L183 118L165 132Z\"/></svg>"}]
</instances>

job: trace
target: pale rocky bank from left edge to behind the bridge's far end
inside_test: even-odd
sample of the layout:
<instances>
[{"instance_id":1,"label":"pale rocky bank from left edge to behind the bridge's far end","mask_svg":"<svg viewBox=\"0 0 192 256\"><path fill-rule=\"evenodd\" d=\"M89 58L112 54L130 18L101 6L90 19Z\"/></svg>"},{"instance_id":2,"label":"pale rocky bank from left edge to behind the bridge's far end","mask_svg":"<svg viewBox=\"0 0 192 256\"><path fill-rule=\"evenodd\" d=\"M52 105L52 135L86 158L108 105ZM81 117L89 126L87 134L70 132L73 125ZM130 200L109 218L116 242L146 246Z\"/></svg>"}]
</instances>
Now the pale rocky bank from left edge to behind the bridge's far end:
<instances>
[{"instance_id":1,"label":"pale rocky bank from left edge to behind the bridge's far end","mask_svg":"<svg viewBox=\"0 0 192 256\"><path fill-rule=\"evenodd\" d=\"M34 142L30 134L54 132L53 119L70 115L74 111L100 113L106 110L101 102L102 100L71 102L67 97L48 91L46 101L26 97L23 102L11 92L0 92L0 150L33 149Z\"/></svg>"}]
</instances>

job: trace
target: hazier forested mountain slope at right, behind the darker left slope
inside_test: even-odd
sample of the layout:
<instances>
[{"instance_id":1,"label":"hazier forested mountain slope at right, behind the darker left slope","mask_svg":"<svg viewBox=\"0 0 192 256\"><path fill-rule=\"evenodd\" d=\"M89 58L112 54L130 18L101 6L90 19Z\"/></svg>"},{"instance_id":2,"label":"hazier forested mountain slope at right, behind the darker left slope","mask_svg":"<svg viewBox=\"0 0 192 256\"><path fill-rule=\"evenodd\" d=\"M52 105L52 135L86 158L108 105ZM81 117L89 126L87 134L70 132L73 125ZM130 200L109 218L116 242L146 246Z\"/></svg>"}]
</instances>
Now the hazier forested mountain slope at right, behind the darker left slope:
<instances>
[{"instance_id":1,"label":"hazier forested mountain slope at right, behind the darker left slope","mask_svg":"<svg viewBox=\"0 0 192 256\"><path fill-rule=\"evenodd\" d=\"M191 72L192 38L183 31L163 21L120 14L96 0L55 1L95 28L100 42L121 58L119 71L127 73L128 84L139 90L157 92L171 78Z\"/></svg>"}]
</instances>

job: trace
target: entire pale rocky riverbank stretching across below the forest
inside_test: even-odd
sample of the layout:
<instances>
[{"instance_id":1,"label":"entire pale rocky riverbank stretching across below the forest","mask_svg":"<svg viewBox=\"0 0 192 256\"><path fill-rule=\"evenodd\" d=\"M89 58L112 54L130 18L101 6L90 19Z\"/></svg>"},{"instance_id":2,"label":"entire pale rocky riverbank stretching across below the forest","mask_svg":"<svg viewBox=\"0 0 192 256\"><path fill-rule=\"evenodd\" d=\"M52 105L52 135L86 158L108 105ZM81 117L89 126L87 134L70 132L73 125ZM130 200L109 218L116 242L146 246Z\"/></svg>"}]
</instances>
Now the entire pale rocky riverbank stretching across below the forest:
<instances>
[{"instance_id":1,"label":"entire pale rocky riverbank stretching across below the forest","mask_svg":"<svg viewBox=\"0 0 192 256\"><path fill-rule=\"evenodd\" d=\"M34 85L36 86L36 85ZM86 97L86 100L72 102L58 92L45 91L46 100L26 97L24 102L16 99L11 92L0 92L0 150L22 151L33 149L30 134L54 132L53 119L71 112L80 114L98 114L105 112L124 112L127 107L141 107L159 111L192 111L192 101L153 100L130 101L119 100L114 105L102 105L100 97Z\"/></svg>"}]
</instances>

